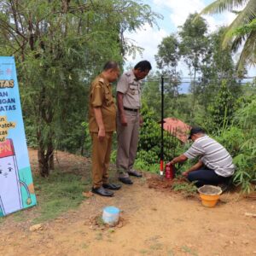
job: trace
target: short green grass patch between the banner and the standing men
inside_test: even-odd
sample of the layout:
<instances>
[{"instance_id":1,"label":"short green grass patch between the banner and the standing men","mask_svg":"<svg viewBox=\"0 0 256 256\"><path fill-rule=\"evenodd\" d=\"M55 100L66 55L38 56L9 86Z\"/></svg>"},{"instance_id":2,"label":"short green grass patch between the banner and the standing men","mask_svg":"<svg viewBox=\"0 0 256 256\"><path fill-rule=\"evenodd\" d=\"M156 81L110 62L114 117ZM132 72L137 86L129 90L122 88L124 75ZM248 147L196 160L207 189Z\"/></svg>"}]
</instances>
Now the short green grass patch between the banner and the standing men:
<instances>
[{"instance_id":1,"label":"short green grass patch between the banner and the standing men","mask_svg":"<svg viewBox=\"0 0 256 256\"><path fill-rule=\"evenodd\" d=\"M55 171L48 178L34 177L35 191L38 197L39 216L34 223L57 218L62 212L79 207L84 201L82 192L90 186L90 181L72 173Z\"/></svg>"}]
</instances>

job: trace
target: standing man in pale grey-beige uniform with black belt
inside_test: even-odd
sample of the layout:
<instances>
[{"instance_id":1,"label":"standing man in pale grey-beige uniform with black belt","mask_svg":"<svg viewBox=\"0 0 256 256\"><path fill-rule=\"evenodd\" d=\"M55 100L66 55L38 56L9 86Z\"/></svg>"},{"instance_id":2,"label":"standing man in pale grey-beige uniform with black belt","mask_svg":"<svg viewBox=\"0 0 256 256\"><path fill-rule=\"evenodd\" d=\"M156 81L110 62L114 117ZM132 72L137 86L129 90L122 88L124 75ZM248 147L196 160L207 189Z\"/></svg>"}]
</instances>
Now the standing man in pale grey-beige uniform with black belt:
<instances>
[{"instance_id":1,"label":"standing man in pale grey-beige uniform with black belt","mask_svg":"<svg viewBox=\"0 0 256 256\"><path fill-rule=\"evenodd\" d=\"M144 79L151 65L148 61L140 61L137 65L124 73L117 85L117 136L118 149L116 166L119 172L119 181L132 184L131 176L142 177L142 174L133 169L137 154L139 126L143 124L140 115L141 106L141 79Z\"/></svg>"}]
</instances>

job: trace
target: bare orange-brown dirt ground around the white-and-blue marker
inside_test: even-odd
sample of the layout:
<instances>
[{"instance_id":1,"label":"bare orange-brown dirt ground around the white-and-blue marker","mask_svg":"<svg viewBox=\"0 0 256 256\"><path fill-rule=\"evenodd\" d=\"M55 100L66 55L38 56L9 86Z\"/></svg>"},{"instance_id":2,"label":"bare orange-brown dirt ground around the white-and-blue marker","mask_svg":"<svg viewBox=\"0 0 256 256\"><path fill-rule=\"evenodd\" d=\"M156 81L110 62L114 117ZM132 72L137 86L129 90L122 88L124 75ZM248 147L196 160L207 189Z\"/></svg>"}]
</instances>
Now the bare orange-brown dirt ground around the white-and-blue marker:
<instances>
[{"instance_id":1,"label":"bare orange-brown dirt ground around the white-and-blue marker","mask_svg":"<svg viewBox=\"0 0 256 256\"><path fill-rule=\"evenodd\" d=\"M66 153L57 156L56 166L71 172L89 170L89 160ZM37 172L34 150L30 160ZM255 200L226 193L216 207L207 208L198 195L185 198L166 184L155 188L152 178L145 172L113 198L84 199L78 209L43 223L39 230L31 231L32 224L10 215L0 224L0 255L256 255L256 218L247 214L256 213ZM107 206L121 210L117 227L100 221Z\"/></svg>"}]
</instances>

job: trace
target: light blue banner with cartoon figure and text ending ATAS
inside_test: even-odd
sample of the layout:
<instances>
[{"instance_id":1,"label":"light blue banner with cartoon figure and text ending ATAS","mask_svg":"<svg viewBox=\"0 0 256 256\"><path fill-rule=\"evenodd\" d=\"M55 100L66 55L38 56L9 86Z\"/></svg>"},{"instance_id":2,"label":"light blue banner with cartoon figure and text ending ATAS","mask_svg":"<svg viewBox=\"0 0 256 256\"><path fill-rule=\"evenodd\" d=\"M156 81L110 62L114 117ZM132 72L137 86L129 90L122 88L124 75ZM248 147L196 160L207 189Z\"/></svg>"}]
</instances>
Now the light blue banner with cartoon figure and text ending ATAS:
<instances>
[{"instance_id":1,"label":"light blue banner with cartoon figure and text ending ATAS","mask_svg":"<svg viewBox=\"0 0 256 256\"><path fill-rule=\"evenodd\" d=\"M36 204L15 58L0 56L0 216Z\"/></svg>"}]
</instances>

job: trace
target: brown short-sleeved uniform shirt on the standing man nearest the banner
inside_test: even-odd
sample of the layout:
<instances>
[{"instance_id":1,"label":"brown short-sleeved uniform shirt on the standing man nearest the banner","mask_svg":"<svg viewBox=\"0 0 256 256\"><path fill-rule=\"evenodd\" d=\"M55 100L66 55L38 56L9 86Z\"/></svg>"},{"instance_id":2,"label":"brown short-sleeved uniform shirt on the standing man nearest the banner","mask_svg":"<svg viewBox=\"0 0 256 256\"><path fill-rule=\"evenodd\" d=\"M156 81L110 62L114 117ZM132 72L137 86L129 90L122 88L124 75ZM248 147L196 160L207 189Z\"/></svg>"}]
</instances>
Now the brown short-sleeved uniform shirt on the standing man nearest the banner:
<instances>
[{"instance_id":1,"label":"brown short-sleeved uniform shirt on the standing man nearest the banner","mask_svg":"<svg viewBox=\"0 0 256 256\"><path fill-rule=\"evenodd\" d=\"M101 108L105 131L115 131L116 106L113 101L112 88L102 75L97 76L90 86L89 130L90 132L98 132L99 127L93 108Z\"/></svg>"}]
</instances>

